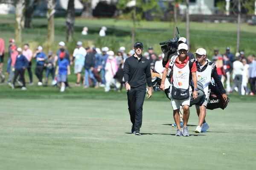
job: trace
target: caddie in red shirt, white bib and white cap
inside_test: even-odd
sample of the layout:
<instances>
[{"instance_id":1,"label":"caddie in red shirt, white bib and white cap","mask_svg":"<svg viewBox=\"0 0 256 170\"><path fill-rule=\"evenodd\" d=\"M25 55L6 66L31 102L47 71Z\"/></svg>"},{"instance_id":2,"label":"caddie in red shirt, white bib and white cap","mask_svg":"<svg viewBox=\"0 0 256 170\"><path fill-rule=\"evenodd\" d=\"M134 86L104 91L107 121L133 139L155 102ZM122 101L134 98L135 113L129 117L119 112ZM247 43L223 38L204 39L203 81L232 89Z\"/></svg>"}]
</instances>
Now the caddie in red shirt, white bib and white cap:
<instances>
[{"instance_id":1,"label":"caddie in red shirt, white bib and white cap","mask_svg":"<svg viewBox=\"0 0 256 170\"><path fill-rule=\"evenodd\" d=\"M178 46L179 55L173 56L166 64L166 68L163 71L162 81L160 88L165 90L165 80L167 76L171 76L171 103L173 108L173 117L177 125L177 133L175 136L189 136L187 123L189 120L189 81L192 77L194 83L193 98L196 99L197 93L197 78L196 78L196 65L195 59L189 59L187 56L188 45L181 43ZM180 105L183 106L183 129L180 128Z\"/></svg>"}]
</instances>

